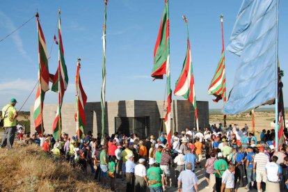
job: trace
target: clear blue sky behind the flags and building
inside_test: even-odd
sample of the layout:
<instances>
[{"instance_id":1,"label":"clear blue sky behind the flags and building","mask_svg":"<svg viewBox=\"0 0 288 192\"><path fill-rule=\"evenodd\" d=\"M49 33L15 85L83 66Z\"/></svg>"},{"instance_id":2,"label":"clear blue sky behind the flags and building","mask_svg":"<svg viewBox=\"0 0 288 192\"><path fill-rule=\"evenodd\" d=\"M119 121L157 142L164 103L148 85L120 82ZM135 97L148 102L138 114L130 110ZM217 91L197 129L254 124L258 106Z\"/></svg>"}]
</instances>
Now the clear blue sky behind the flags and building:
<instances>
[{"instance_id":1,"label":"clear blue sky behind the flags and building","mask_svg":"<svg viewBox=\"0 0 288 192\"><path fill-rule=\"evenodd\" d=\"M212 102L207 95L221 57L221 22L224 15L225 47L241 6L240 0L170 0L170 72L171 87L182 70L186 54L186 26L182 15L189 20L191 56L195 78L195 95L208 101L210 109L221 109L223 102ZM61 9L62 38L69 85L64 103L75 102L77 58L81 58L81 81L88 102L99 102L102 85L102 26L104 1L1 1L0 39L29 18L40 15L40 24L47 42L49 72L58 66L58 46L54 33ZM109 0L106 23L106 101L163 100L166 80L152 81L154 45L164 8L164 0ZM288 106L288 1L280 1L279 58L284 70L285 106ZM19 31L0 42L1 78L0 107L16 98L17 109L24 103L38 79L38 35L35 18ZM225 52L227 95L232 88L239 58ZM50 85L51 87L51 85ZM35 90L24 105L33 106ZM183 99L173 95L173 99ZM45 104L57 103L57 94L49 90Z\"/></svg>"}]
</instances>

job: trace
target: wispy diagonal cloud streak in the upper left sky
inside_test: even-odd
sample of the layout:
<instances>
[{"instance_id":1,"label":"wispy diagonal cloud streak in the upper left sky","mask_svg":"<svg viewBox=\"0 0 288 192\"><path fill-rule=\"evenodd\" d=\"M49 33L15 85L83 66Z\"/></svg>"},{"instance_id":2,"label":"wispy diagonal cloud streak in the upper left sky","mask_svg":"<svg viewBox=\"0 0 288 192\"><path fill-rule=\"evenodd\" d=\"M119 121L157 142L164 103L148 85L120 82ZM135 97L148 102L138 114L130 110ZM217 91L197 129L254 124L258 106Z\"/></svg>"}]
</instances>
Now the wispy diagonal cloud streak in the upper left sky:
<instances>
[{"instance_id":1,"label":"wispy diagonal cloud streak in the upper left sky","mask_svg":"<svg viewBox=\"0 0 288 192\"><path fill-rule=\"evenodd\" d=\"M8 33L16 29L13 21L5 13L1 11L0 11L0 25L6 28L8 30ZM23 47L23 42L18 31L13 33L13 35L11 35L11 38L13 39L13 42L15 43L17 50L23 56L23 58L25 58L26 61L28 61L29 63L34 64L33 60L30 58L30 56L27 54L26 50Z\"/></svg>"}]
</instances>

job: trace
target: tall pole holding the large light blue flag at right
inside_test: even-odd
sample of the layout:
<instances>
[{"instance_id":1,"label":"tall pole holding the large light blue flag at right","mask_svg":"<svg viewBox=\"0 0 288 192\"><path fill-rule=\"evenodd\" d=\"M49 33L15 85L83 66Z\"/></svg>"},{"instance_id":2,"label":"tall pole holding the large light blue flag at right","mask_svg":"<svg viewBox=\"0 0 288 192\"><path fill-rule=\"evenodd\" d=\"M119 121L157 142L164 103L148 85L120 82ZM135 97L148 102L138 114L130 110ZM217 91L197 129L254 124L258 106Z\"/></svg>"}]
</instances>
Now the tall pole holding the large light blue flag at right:
<instances>
[{"instance_id":1,"label":"tall pole holding the large light blue flag at right","mask_svg":"<svg viewBox=\"0 0 288 192\"><path fill-rule=\"evenodd\" d=\"M275 88L275 150L278 152L278 20L279 20L279 0L277 0L276 11L276 54L275 54L275 76L276 76L276 88Z\"/></svg>"}]
</instances>

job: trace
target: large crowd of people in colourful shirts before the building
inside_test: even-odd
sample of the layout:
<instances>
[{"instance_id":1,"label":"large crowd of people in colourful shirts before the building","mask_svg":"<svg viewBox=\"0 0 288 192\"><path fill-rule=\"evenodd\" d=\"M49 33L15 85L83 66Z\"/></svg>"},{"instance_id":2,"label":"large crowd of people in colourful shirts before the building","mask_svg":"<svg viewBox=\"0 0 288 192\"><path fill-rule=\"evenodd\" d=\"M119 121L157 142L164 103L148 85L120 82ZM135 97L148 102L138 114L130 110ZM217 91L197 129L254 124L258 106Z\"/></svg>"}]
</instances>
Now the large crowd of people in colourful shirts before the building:
<instances>
[{"instance_id":1,"label":"large crowd of people in colourful shirts before the building","mask_svg":"<svg viewBox=\"0 0 288 192\"><path fill-rule=\"evenodd\" d=\"M285 139L287 136L285 129ZM168 147L166 134L138 138L100 134L93 138L70 138L63 133L55 141L52 135L26 136L26 143L36 143L56 161L69 161L84 172L95 174L95 180L115 190L115 179L126 181L127 191L165 191L171 186L178 191L198 191L196 170L205 169L206 189L237 191L239 187L258 191L288 189L288 145L275 152L275 131L263 130L260 140L248 127L224 128L211 125L202 131L186 128L175 132ZM198 169L200 168L200 169ZM171 174L173 173L173 174ZM174 177L174 178L173 178Z\"/></svg>"}]
</instances>

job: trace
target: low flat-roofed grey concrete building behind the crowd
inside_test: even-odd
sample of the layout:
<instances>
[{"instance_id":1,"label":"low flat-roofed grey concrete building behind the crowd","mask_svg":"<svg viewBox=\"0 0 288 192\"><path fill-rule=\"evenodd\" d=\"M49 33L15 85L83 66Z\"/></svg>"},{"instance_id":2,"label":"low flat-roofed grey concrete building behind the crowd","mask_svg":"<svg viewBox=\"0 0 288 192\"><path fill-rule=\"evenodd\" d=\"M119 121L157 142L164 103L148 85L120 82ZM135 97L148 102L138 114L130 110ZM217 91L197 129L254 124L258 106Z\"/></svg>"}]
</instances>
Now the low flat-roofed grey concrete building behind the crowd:
<instances>
[{"instance_id":1,"label":"low flat-roofed grey concrete building behind the crowd","mask_svg":"<svg viewBox=\"0 0 288 192\"><path fill-rule=\"evenodd\" d=\"M105 131L109 135L116 131L125 134L136 133L141 138L154 134L159 135L162 129L166 132L163 120L166 115L166 105L163 101L113 101L106 102L106 125ZM209 106L208 102L197 102L199 126L208 127ZM45 132L52 133L52 125L56 115L57 104L45 104L43 120ZM75 134L76 124L74 114L76 104L63 104L62 106L62 125L63 131L70 136ZM33 107L31 107L33 114ZM84 132L92 131L93 135L101 133L101 106L100 102L88 102L85 106L86 128ZM195 127L194 109L186 100L173 100L171 104L171 127L172 131L183 131L186 127ZM31 115L31 130L35 130L33 115Z\"/></svg>"}]
</instances>

